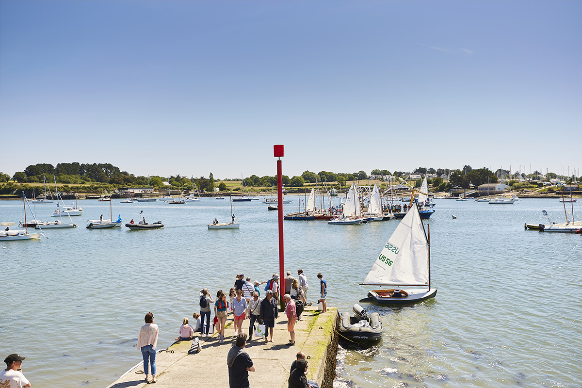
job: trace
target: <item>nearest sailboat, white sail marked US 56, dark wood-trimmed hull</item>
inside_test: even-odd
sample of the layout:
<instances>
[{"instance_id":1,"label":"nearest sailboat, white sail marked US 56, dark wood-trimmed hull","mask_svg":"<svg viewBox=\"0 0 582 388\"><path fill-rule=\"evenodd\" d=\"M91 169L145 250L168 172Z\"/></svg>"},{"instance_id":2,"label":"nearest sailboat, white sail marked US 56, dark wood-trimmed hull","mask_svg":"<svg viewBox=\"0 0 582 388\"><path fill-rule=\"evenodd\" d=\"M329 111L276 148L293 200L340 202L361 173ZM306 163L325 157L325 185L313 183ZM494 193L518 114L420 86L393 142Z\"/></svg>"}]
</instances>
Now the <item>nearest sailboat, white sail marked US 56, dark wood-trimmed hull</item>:
<instances>
[{"instance_id":1,"label":"nearest sailboat, white sail marked US 56, dark wood-trimmed hull","mask_svg":"<svg viewBox=\"0 0 582 388\"><path fill-rule=\"evenodd\" d=\"M437 295L431 288L430 230L428 238L414 206L400 221L382 252L365 277L366 286L392 286L395 288L372 290L360 302L375 302L383 305L402 305L420 302ZM428 287L406 290L400 287ZM395 294L395 291L399 290Z\"/></svg>"}]
</instances>

